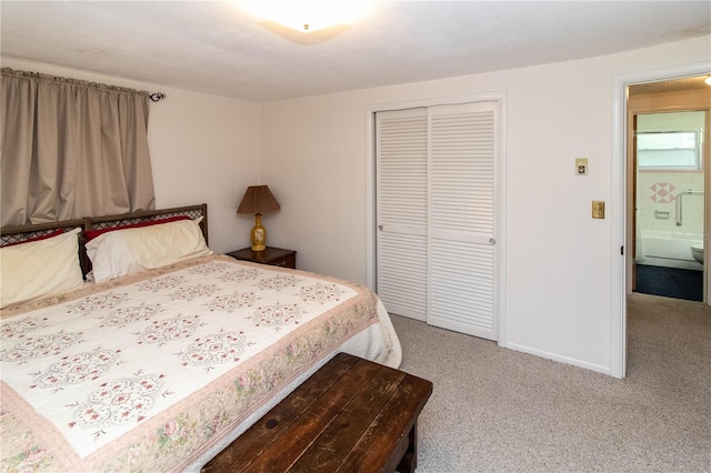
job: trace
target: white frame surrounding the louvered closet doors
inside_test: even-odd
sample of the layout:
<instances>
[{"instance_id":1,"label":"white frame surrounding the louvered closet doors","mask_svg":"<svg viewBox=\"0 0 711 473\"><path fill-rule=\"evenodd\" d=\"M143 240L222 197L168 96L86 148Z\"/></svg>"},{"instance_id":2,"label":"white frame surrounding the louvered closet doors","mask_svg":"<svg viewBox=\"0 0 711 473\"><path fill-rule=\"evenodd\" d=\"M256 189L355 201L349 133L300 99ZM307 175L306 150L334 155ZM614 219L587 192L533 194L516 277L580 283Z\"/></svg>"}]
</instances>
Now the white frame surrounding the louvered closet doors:
<instances>
[{"instance_id":1,"label":"white frame surrounding the louvered closet doors","mask_svg":"<svg viewBox=\"0 0 711 473\"><path fill-rule=\"evenodd\" d=\"M375 112L385 110L402 110L418 107L449 105L467 102L494 101L499 108L499 191L497 194L498 212L497 225L499 227L497 251L499 252L499 269L497 289L494 290L497 305L498 344L507 346L507 316L505 316L505 268L507 268L507 219L505 219L505 169L507 169L507 92L495 91L489 93L463 94L453 97L438 97L429 99L395 101L385 103L372 103L365 105L365 285L375 291L378 288L378 259L377 259L377 199L375 199Z\"/></svg>"}]
</instances>

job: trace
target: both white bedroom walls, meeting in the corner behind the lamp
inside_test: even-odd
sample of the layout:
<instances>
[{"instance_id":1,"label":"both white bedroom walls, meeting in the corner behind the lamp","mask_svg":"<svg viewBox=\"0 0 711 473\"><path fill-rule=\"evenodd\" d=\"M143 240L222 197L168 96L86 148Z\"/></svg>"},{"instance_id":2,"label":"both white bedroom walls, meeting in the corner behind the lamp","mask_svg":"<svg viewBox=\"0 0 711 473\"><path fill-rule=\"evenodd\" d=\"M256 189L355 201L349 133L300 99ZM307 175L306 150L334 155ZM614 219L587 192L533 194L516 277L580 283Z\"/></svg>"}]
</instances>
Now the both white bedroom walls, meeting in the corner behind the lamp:
<instances>
[{"instance_id":1,"label":"both white bedroom walls, meeting in the corner behind the lamp","mask_svg":"<svg viewBox=\"0 0 711 473\"><path fill-rule=\"evenodd\" d=\"M601 372L610 369L612 83L615 77L709 61L711 38L603 58L358 90L261 107L2 58L2 66L162 91L149 140L157 207L208 202L210 245L249 244L247 185L269 184L281 211L264 215L269 244L299 268L364 283L369 147L375 104L502 91L507 95L508 346ZM472 59L472 60L475 60ZM260 113L261 109L261 113ZM261 137L260 137L261 133ZM573 174L589 158L589 175ZM261 171L260 171L261 167ZM612 209L608 207L608 215Z\"/></svg>"}]
</instances>

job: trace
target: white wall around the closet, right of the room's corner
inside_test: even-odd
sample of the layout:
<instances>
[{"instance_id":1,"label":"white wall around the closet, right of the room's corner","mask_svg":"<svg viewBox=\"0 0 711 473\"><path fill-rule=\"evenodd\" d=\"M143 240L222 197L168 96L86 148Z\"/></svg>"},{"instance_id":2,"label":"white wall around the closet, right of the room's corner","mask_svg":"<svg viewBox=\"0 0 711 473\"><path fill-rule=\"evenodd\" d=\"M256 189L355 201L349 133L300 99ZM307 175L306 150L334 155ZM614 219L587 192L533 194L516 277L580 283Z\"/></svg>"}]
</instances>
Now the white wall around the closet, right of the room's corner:
<instances>
[{"instance_id":1,"label":"white wall around the closet, right of the room's corner","mask_svg":"<svg viewBox=\"0 0 711 473\"><path fill-rule=\"evenodd\" d=\"M270 243L299 266L364 283L368 120L374 104L503 91L508 346L610 371L613 78L708 61L710 38L518 70L266 103ZM589 175L573 173L589 159ZM608 218L591 219L591 201Z\"/></svg>"}]
</instances>

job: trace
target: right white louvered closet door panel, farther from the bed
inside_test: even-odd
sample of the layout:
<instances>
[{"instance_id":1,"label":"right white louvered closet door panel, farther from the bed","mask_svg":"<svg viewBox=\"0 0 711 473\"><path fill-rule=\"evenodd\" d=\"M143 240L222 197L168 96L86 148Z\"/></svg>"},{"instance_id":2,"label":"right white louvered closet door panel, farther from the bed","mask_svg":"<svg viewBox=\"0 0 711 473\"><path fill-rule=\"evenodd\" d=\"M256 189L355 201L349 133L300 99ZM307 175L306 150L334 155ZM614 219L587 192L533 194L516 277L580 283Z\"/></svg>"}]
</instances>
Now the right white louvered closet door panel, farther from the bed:
<instances>
[{"instance_id":1,"label":"right white louvered closet door panel, farther from the bed","mask_svg":"<svg viewBox=\"0 0 711 473\"><path fill-rule=\"evenodd\" d=\"M497 103L429 109L428 323L497 340Z\"/></svg>"}]
</instances>

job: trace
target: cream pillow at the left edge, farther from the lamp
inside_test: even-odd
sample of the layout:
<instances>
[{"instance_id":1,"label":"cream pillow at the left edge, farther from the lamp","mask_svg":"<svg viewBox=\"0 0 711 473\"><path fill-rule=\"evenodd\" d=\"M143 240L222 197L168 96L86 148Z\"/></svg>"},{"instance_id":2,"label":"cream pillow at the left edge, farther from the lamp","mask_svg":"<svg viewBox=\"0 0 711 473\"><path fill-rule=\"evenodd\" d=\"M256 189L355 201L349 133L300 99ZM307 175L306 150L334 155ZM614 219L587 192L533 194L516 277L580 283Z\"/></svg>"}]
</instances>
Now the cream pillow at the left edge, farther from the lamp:
<instances>
[{"instance_id":1,"label":"cream pillow at the left edge, farther from the lamp","mask_svg":"<svg viewBox=\"0 0 711 473\"><path fill-rule=\"evenodd\" d=\"M0 249L0 306L81 288L80 231Z\"/></svg>"}]
</instances>

